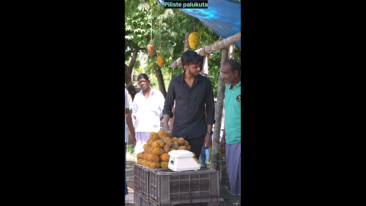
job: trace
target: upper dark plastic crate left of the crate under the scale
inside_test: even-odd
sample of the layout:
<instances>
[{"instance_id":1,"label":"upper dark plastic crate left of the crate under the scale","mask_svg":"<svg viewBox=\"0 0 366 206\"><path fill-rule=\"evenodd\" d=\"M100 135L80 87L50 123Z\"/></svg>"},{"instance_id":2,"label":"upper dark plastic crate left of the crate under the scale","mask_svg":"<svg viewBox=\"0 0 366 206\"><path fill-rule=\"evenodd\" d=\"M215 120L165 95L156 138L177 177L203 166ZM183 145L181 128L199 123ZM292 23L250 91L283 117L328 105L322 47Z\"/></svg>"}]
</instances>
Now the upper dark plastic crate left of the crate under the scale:
<instances>
[{"instance_id":1,"label":"upper dark plastic crate left of the crate under the scale","mask_svg":"<svg viewBox=\"0 0 366 206\"><path fill-rule=\"evenodd\" d=\"M134 191L145 199L149 199L149 169L134 164Z\"/></svg>"}]
</instances>

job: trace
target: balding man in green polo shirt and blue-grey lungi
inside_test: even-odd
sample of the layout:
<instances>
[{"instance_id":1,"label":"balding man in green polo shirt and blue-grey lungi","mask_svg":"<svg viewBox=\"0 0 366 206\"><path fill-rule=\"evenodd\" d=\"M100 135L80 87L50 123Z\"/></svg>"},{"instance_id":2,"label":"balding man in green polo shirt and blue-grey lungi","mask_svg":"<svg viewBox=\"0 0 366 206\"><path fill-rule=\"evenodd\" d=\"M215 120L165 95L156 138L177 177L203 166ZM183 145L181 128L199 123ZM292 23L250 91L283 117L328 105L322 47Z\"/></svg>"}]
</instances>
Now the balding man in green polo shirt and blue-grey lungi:
<instances>
[{"instance_id":1,"label":"balding man in green polo shirt and blue-grey lungi","mask_svg":"<svg viewBox=\"0 0 366 206\"><path fill-rule=\"evenodd\" d=\"M229 59L221 68L223 79L229 86L225 89L225 126L220 150L226 154L226 168L235 195L240 193L241 169L241 78L239 62Z\"/></svg>"}]
</instances>

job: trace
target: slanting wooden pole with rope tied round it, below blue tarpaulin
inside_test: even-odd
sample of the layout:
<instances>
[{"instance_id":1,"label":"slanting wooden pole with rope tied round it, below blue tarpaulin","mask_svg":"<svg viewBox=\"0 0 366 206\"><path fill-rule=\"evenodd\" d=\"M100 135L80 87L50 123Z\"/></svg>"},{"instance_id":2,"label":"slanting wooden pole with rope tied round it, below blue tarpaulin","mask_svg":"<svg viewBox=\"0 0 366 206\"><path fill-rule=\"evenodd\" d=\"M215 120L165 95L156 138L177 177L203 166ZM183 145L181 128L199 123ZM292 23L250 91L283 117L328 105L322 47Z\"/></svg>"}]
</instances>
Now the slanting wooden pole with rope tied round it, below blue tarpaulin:
<instances>
[{"instance_id":1,"label":"slanting wooden pole with rope tied round it, below blue tarpaulin","mask_svg":"<svg viewBox=\"0 0 366 206\"><path fill-rule=\"evenodd\" d=\"M224 38L223 40L217 41L214 44L208 45L205 48L205 53L209 54L209 53L214 52L216 50L228 47L228 46L230 46L230 44L234 44L235 42L240 41L240 40L241 40L241 32L238 32L234 35L231 35L227 38ZM195 52L197 52L197 54L200 55L200 56L205 55L205 53L203 53L203 48L197 49L197 50L195 50ZM170 67L174 68L175 66L178 66L178 65L182 65L182 62L180 62L180 58L178 58L177 60L172 62L170 64Z\"/></svg>"}]
</instances>

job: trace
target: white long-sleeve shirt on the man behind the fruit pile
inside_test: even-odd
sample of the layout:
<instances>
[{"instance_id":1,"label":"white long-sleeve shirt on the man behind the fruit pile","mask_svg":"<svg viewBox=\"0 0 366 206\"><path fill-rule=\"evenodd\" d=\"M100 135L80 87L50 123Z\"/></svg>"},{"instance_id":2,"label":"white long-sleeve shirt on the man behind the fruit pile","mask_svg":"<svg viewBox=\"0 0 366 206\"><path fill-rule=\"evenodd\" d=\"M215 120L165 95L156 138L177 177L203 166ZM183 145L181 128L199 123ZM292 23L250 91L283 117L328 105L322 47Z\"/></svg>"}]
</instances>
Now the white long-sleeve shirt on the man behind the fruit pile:
<instances>
[{"instance_id":1,"label":"white long-sleeve shirt on the man behind the fruit pile","mask_svg":"<svg viewBox=\"0 0 366 206\"><path fill-rule=\"evenodd\" d=\"M142 90L135 95L132 102L132 115L136 117L135 132L158 132L160 130L160 113L164 109L163 94L151 88L146 99Z\"/></svg>"}]
</instances>

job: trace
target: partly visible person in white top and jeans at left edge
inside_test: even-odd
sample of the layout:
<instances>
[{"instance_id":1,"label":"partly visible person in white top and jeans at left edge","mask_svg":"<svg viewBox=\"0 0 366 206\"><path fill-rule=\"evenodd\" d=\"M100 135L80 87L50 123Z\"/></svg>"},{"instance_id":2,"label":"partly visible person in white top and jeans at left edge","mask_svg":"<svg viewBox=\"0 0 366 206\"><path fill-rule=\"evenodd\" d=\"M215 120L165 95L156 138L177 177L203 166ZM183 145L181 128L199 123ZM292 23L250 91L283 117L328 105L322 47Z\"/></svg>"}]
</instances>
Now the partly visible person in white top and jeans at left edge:
<instances>
[{"instance_id":1,"label":"partly visible person in white top and jeans at left edge","mask_svg":"<svg viewBox=\"0 0 366 206\"><path fill-rule=\"evenodd\" d=\"M134 126L132 125L131 113L130 113L130 103L128 103L128 92L127 89L124 88L124 203L134 203L134 196L128 194L127 190L127 176L126 176L126 152L127 152L127 125L128 129L130 129L132 135L132 147L134 148L136 145L136 138L135 138L135 130Z\"/></svg>"}]
</instances>

